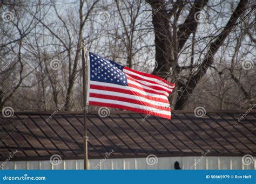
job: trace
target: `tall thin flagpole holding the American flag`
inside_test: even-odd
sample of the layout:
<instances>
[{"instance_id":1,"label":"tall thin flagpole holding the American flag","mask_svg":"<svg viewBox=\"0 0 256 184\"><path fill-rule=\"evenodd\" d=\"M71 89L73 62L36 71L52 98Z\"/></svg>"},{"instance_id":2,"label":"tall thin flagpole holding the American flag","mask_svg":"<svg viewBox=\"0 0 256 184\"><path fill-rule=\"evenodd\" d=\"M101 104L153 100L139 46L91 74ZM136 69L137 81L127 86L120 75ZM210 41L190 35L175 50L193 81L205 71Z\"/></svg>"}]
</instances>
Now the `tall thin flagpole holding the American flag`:
<instances>
[{"instance_id":1,"label":"tall thin flagpole holding the American flag","mask_svg":"<svg viewBox=\"0 0 256 184\"><path fill-rule=\"evenodd\" d=\"M87 85L87 77L85 75L85 69L87 66L87 57L85 51L85 41L83 40L83 47L82 47L82 70L83 70L83 112L84 112L84 169L88 169L88 148L87 148L87 127L86 127L86 116L87 116L87 105L86 105L86 85ZM87 67L86 67L87 66Z\"/></svg>"}]
</instances>

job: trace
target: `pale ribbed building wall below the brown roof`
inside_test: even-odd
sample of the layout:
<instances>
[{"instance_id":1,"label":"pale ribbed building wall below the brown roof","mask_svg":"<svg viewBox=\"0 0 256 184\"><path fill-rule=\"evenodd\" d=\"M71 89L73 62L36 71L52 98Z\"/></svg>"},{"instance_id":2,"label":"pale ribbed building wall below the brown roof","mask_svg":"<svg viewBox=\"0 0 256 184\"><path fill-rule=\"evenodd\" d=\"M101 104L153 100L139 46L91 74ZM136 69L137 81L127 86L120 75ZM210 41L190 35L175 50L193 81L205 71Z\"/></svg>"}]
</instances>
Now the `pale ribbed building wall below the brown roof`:
<instances>
[{"instance_id":1,"label":"pale ribbed building wall below the brown roof","mask_svg":"<svg viewBox=\"0 0 256 184\"><path fill-rule=\"evenodd\" d=\"M251 165L243 165L242 157L160 157L155 165L148 165L146 158L90 159L89 169L174 169L176 161L181 169L256 169L256 157ZM9 161L2 169L83 169L83 166L83 160L62 160L59 165L51 165L49 160Z\"/></svg>"}]
</instances>

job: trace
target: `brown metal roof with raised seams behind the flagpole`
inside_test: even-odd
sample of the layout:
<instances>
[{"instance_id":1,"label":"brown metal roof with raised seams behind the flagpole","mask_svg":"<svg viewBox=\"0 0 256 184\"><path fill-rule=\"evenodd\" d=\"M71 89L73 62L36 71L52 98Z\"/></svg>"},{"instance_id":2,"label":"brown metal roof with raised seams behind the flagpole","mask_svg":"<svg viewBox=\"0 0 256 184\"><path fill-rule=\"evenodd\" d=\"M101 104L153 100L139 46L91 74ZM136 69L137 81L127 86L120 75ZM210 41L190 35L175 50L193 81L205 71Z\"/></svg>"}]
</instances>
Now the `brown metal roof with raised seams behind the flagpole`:
<instances>
[{"instance_id":1,"label":"brown metal roof with raised seams behind the flagpole","mask_svg":"<svg viewBox=\"0 0 256 184\"><path fill-rule=\"evenodd\" d=\"M246 111L246 110L245 110ZM18 150L13 160L49 159L59 154L63 159L83 158L83 114L58 112L18 112L0 116L0 160ZM108 117L87 115L89 158L207 155L256 155L256 111L239 123L242 111L207 112L196 117L193 112L177 111L171 121L133 112L113 112ZM144 118L144 122L143 122Z\"/></svg>"}]
</instances>

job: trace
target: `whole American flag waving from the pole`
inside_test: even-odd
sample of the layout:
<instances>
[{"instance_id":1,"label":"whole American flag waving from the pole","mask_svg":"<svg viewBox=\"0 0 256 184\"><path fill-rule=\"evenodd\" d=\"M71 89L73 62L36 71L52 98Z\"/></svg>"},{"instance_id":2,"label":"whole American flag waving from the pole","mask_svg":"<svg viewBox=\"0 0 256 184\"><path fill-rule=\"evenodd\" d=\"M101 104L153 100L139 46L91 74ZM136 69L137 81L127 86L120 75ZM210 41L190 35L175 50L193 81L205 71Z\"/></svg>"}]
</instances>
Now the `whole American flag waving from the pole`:
<instances>
[{"instance_id":1,"label":"whole American flag waving from the pole","mask_svg":"<svg viewBox=\"0 0 256 184\"><path fill-rule=\"evenodd\" d=\"M87 104L171 119L174 88L158 76L137 72L89 52Z\"/></svg>"}]
</instances>

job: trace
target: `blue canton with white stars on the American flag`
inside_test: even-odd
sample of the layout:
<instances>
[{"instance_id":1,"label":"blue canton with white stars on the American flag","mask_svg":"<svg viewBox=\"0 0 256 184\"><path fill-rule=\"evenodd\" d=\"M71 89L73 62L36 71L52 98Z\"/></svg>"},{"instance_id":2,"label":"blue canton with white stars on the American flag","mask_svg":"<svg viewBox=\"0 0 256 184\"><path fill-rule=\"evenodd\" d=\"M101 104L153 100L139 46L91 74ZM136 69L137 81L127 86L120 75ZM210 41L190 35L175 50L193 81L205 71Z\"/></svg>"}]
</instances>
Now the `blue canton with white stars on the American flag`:
<instances>
[{"instance_id":1,"label":"blue canton with white stars on the American flag","mask_svg":"<svg viewBox=\"0 0 256 184\"><path fill-rule=\"evenodd\" d=\"M109 59L89 52L91 81L107 82L127 86L127 79L123 72L124 66Z\"/></svg>"}]
</instances>

